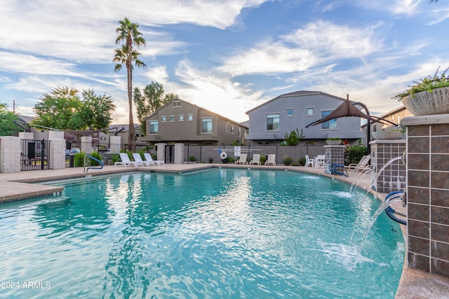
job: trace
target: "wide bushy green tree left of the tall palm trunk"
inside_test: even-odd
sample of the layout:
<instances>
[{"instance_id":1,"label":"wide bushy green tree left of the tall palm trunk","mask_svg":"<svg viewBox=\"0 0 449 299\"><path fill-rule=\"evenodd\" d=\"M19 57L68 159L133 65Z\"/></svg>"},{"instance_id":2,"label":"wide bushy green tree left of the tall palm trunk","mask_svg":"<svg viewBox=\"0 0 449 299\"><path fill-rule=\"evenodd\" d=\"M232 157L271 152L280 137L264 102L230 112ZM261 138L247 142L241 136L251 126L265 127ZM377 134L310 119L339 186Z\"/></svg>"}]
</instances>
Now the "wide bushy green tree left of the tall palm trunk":
<instances>
[{"instance_id":1,"label":"wide bushy green tree left of the tall palm trunk","mask_svg":"<svg viewBox=\"0 0 449 299\"><path fill-rule=\"evenodd\" d=\"M37 118L32 123L60 130L107 129L116 106L111 97L75 88L55 88L34 105Z\"/></svg>"}]
</instances>

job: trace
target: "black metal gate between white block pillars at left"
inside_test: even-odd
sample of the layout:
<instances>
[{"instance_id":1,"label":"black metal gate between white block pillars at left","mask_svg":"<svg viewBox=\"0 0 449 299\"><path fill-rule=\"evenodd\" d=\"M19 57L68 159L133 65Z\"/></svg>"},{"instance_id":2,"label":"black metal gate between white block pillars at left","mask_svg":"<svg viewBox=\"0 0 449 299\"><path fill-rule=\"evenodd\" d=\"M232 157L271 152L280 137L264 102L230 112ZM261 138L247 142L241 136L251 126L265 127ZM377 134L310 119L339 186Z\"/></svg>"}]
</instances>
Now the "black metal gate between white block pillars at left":
<instances>
[{"instance_id":1,"label":"black metal gate between white block pillars at left","mask_svg":"<svg viewBox=\"0 0 449 299\"><path fill-rule=\"evenodd\" d=\"M49 169L50 140L22 139L20 149L20 171Z\"/></svg>"}]
</instances>

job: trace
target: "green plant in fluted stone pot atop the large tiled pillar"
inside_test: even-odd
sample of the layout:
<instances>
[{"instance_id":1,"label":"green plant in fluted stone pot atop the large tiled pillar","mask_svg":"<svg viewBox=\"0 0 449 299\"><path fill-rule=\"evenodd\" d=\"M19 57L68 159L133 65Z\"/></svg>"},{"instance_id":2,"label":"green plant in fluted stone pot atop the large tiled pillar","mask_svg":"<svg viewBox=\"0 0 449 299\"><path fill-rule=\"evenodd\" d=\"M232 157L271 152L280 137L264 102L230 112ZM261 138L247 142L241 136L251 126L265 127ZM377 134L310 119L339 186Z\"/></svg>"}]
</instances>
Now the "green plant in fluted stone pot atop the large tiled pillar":
<instances>
[{"instance_id":1,"label":"green plant in fluted stone pot atop the large tiled pillar","mask_svg":"<svg viewBox=\"0 0 449 299\"><path fill-rule=\"evenodd\" d=\"M401 101L414 116L449 113L449 78L446 78L449 68L441 74L438 74L439 69L434 76L413 81L414 85L409 85L408 90L392 98Z\"/></svg>"}]
</instances>

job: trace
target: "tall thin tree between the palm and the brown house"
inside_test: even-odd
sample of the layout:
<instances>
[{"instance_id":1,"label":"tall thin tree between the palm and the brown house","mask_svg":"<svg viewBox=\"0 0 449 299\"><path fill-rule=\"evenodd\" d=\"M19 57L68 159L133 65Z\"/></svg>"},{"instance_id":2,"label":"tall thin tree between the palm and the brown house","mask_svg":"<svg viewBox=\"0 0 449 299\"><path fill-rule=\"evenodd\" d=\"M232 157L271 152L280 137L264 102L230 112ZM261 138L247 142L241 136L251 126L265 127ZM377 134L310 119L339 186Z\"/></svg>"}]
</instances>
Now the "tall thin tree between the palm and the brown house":
<instances>
[{"instance_id":1,"label":"tall thin tree between the palm and the brown house","mask_svg":"<svg viewBox=\"0 0 449 299\"><path fill-rule=\"evenodd\" d=\"M144 134L147 130L145 118L152 116L160 106L178 97L173 93L164 95L163 92L163 85L153 81L145 86L142 92L139 88L134 88L134 103L138 111L140 128Z\"/></svg>"}]
</instances>

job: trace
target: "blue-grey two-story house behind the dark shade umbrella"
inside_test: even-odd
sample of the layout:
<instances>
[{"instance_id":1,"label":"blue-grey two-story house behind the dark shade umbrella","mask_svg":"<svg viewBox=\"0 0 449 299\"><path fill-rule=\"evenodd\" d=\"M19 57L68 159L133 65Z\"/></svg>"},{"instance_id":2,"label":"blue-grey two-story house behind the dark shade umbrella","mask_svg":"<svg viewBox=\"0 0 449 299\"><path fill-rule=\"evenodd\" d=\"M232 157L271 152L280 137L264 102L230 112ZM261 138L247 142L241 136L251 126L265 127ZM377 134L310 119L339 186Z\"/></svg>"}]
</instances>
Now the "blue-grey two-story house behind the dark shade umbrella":
<instances>
[{"instance_id":1,"label":"blue-grey two-story house behind the dark shade umbrella","mask_svg":"<svg viewBox=\"0 0 449 299\"><path fill-rule=\"evenodd\" d=\"M246 114L249 116L251 145L279 144L292 130L301 130L306 143L323 144L328 138L340 137L350 144L363 138L361 119L357 117L336 118L319 125L305 128L324 118L344 102L341 97L318 91L297 91L279 95L257 106Z\"/></svg>"}]
</instances>

